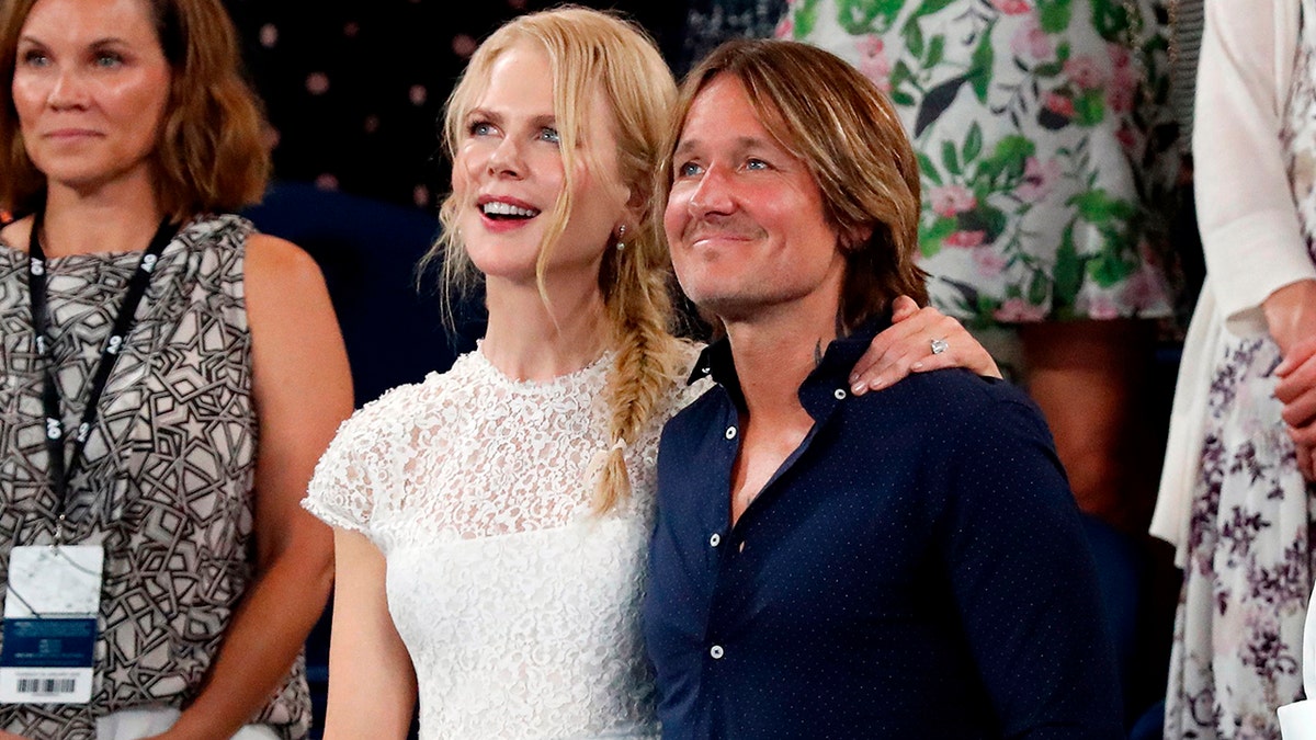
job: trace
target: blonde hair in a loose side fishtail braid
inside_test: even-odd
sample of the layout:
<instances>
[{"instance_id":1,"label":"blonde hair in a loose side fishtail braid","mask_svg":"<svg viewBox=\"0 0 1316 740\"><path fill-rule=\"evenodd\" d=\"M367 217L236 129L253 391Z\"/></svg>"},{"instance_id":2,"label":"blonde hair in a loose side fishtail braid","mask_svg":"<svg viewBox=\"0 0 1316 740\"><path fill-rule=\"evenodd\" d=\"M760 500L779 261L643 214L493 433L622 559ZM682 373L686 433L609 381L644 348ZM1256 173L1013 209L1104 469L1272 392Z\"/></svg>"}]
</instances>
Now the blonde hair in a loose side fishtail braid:
<instances>
[{"instance_id":1,"label":"blonde hair in a loose side fishtail braid","mask_svg":"<svg viewBox=\"0 0 1316 740\"><path fill-rule=\"evenodd\" d=\"M495 32L471 58L447 100L443 144L454 157L466 136L467 113L490 82L494 63L517 43L533 42L547 54L553 74L553 108L561 136L565 184L545 216L549 228L540 246L536 275L547 302L545 267L572 209L572 180L580 155L578 142L591 126L582 112L599 91L613 116L617 140L617 176L629 188L630 204L640 205L640 223L625 234L625 249L611 242L599 269L599 290L612 330L616 359L604 398L611 411L609 450L595 491L595 511L612 511L630 492L625 446L634 442L671 388L680 367L680 346L669 332L671 323L671 266L662 233L654 187L667 115L676 84L653 41L616 16L584 8L558 8L521 16ZM595 165L594 162L586 162ZM462 245L458 212L465 203L449 195L440 208L443 234L430 257L442 258L445 305L451 317L453 292L479 280Z\"/></svg>"}]
</instances>

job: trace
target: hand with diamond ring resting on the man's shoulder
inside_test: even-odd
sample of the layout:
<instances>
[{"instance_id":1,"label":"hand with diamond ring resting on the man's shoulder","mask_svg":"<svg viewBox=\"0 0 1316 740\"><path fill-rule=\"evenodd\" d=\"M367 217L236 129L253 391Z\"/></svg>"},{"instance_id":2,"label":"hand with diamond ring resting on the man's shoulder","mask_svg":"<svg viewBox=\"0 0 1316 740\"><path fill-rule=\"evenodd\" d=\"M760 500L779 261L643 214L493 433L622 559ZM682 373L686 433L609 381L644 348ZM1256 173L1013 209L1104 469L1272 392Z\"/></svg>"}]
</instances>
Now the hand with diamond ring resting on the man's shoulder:
<instances>
[{"instance_id":1,"label":"hand with diamond ring resting on the man's shoulder","mask_svg":"<svg viewBox=\"0 0 1316 740\"><path fill-rule=\"evenodd\" d=\"M944 340L946 350L933 354L932 340ZM967 367L979 375L1000 378L996 361L965 327L933 307L919 308L908 296L891 307L891 327L873 338L869 352L850 373L850 392L863 395L904 379L909 373L944 367Z\"/></svg>"}]
</instances>

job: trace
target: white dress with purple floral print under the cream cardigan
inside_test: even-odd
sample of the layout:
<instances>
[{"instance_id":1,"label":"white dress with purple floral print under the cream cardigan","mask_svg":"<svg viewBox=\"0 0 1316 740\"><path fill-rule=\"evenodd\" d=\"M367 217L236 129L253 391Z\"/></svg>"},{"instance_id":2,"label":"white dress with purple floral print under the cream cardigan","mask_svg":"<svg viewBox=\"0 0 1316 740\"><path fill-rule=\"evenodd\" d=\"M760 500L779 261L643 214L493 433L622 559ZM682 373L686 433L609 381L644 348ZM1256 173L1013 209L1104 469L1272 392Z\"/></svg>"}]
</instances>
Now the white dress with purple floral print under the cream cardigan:
<instances>
[{"instance_id":1,"label":"white dress with purple floral print under the cream cardigan","mask_svg":"<svg viewBox=\"0 0 1316 740\"><path fill-rule=\"evenodd\" d=\"M1303 0L1302 12L1280 144L1316 261L1316 1ZM1278 739L1277 707L1303 698L1316 486L1299 474L1279 416L1279 346L1228 332L1221 345L1192 490L1165 736Z\"/></svg>"}]
</instances>

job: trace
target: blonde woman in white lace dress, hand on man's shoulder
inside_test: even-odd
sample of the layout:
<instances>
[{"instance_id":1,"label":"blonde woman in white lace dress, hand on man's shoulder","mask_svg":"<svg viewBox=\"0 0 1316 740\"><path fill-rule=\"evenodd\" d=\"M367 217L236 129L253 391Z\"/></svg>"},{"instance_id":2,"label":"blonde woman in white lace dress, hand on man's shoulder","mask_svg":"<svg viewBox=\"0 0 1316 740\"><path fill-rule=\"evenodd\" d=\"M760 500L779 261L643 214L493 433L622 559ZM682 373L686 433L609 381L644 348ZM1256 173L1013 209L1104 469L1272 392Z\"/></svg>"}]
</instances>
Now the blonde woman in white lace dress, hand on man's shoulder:
<instances>
[{"instance_id":1,"label":"blonde woman in white lace dress, hand on man's shoulder","mask_svg":"<svg viewBox=\"0 0 1316 740\"><path fill-rule=\"evenodd\" d=\"M657 438L707 387L667 333L653 212L674 100L653 43L583 9L503 26L454 91L441 248L449 286L483 278L488 330L358 412L312 482L337 545L328 737L405 736L417 689L422 737L657 735L638 619ZM991 371L945 321L912 313L870 375Z\"/></svg>"}]
</instances>

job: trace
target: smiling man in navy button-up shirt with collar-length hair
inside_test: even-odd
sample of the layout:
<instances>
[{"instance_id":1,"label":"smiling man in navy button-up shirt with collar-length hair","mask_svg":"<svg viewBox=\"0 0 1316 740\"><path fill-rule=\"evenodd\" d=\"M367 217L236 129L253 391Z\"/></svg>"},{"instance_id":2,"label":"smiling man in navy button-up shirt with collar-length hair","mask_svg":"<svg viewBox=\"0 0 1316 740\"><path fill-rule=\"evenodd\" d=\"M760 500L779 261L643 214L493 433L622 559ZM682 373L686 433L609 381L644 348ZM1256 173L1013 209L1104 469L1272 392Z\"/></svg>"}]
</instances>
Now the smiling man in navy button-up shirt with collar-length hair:
<instances>
[{"instance_id":1,"label":"smiling man in navy button-up shirt with collar-length hair","mask_svg":"<svg viewBox=\"0 0 1316 740\"><path fill-rule=\"evenodd\" d=\"M891 104L825 51L732 42L687 79L671 151L672 262L725 337L658 460L663 735L1120 737L1091 556L1036 407L962 370L849 394L891 302L926 296Z\"/></svg>"}]
</instances>

